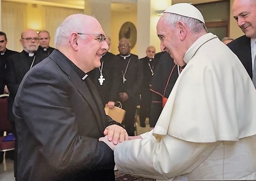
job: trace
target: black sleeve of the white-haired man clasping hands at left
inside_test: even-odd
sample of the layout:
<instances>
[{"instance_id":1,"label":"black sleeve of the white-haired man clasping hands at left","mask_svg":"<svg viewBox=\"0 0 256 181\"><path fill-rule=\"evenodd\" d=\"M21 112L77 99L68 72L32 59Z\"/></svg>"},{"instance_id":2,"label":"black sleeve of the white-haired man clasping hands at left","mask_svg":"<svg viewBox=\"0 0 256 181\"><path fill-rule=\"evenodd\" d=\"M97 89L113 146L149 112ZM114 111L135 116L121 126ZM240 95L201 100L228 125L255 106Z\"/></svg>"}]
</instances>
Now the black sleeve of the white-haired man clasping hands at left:
<instances>
[{"instance_id":1,"label":"black sleeve of the white-haired man clasping hands at left","mask_svg":"<svg viewBox=\"0 0 256 181\"><path fill-rule=\"evenodd\" d=\"M102 170L114 164L113 151L104 142L79 134L66 79L53 71L35 69L22 81L14 114L22 115L53 169L58 173Z\"/></svg>"}]
</instances>

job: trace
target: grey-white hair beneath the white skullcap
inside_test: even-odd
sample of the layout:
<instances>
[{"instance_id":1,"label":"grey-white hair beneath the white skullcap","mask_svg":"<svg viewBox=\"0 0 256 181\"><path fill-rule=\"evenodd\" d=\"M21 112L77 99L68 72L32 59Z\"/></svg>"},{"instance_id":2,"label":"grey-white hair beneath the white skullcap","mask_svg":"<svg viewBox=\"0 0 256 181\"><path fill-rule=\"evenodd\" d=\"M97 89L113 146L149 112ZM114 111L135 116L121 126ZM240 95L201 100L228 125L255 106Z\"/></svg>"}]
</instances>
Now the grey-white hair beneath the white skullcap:
<instances>
[{"instance_id":1,"label":"grey-white hair beneath the white skullcap","mask_svg":"<svg viewBox=\"0 0 256 181\"><path fill-rule=\"evenodd\" d=\"M170 25L170 27L173 29L176 25L177 22L182 21L187 25L190 30L193 33L200 33L202 31L205 31L207 33L207 28L206 25L199 21L198 19L186 17L186 16L181 16L178 14L173 14L173 13L165 13L166 15L163 16L163 20Z\"/></svg>"}]
</instances>

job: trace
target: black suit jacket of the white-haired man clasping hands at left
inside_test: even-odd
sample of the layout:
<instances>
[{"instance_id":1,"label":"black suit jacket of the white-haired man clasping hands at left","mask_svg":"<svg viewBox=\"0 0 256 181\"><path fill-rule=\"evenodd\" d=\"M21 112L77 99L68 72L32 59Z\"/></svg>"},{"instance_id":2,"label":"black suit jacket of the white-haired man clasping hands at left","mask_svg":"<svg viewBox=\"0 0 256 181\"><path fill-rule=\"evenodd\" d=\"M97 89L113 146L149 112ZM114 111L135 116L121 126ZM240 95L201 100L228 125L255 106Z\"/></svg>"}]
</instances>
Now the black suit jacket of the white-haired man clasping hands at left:
<instances>
[{"instance_id":1,"label":"black suit jacket of the white-haired man clasping hands at left","mask_svg":"<svg viewBox=\"0 0 256 181\"><path fill-rule=\"evenodd\" d=\"M114 181L113 151L99 142L106 126L96 88L54 50L20 83L13 111L19 181Z\"/></svg>"}]
</instances>

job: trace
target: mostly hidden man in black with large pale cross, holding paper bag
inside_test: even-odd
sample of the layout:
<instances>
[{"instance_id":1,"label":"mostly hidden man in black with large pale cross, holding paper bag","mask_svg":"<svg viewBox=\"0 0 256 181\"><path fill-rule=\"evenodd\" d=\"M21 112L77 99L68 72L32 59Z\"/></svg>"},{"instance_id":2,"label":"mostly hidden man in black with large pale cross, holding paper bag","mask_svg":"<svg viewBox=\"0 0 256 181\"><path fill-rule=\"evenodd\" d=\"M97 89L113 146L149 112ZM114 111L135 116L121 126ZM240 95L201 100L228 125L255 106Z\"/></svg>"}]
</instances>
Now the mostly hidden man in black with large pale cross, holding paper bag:
<instances>
[{"instance_id":1,"label":"mostly hidden man in black with large pale cross, holding paper bag","mask_svg":"<svg viewBox=\"0 0 256 181\"><path fill-rule=\"evenodd\" d=\"M110 38L106 37L108 47L110 47ZM118 100L118 90L121 85L121 72L118 71L118 58L113 53L103 50L101 66L89 72L89 77L96 86L103 105L108 108L115 107L115 101Z\"/></svg>"}]
</instances>

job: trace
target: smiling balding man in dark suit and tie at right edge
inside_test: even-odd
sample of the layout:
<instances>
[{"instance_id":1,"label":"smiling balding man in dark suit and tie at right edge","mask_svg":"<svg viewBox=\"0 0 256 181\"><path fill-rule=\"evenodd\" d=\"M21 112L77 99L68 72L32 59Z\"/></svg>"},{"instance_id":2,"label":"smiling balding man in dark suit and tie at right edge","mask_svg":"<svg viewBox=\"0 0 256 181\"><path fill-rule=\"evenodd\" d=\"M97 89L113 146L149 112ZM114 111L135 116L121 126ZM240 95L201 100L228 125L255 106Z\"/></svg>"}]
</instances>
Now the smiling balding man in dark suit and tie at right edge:
<instances>
[{"instance_id":1,"label":"smiling balding man in dark suit and tie at right edge","mask_svg":"<svg viewBox=\"0 0 256 181\"><path fill-rule=\"evenodd\" d=\"M230 42L228 47L240 59L256 87L256 1L234 0L232 10L237 25L245 35Z\"/></svg>"}]
</instances>

